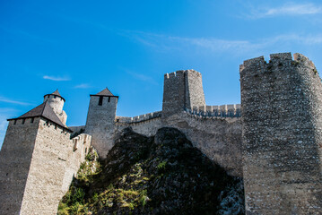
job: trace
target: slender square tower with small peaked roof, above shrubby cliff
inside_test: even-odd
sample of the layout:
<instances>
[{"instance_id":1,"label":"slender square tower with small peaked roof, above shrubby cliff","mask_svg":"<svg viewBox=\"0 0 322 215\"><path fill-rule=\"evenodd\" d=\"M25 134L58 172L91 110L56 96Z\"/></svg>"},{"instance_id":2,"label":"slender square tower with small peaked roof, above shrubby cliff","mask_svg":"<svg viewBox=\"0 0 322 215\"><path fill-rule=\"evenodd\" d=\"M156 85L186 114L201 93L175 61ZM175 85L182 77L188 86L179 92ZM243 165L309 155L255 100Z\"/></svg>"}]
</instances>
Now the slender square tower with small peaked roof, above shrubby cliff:
<instances>
[{"instance_id":1,"label":"slender square tower with small peaked roof, above shrubby cliff","mask_svg":"<svg viewBox=\"0 0 322 215\"><path fill-rule=\"evenodd\" d=\"M108 88L91 95L85 133L92 136L91 144L101 158L106 158L113 147L117 100L118 96L114 96Z\"/></svg>"}]
</instances>

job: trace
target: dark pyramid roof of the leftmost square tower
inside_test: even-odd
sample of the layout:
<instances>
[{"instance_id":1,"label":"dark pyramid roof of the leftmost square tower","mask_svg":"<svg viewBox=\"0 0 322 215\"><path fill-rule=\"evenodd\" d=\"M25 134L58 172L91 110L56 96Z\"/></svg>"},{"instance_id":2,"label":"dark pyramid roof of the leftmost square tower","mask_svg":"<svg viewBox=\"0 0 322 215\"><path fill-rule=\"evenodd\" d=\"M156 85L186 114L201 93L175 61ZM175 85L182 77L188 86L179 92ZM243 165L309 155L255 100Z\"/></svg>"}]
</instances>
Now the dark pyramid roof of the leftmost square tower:
<instances>
[{"instance_id":1,"label":"dark pyramid roof of the leftmost square tower","mask_svg":"<svg viewBox=\"0 0 322 215\"><path fill-rule=\"evenodd\" d=\"M70 130L67 126L65 126L62 123L62 121L60 121L58 116L55 114L53 108L49 106L48 102L42 103L41 105L31 109L30 111L23 114L22 116L19 116L17 118L8 119L8 121L13 120L13 119L23 119L23 118L30 118L30 117L36 117L36 116L42 116L42 117L50 120L51 122Z\"/></svg>"}]
</instances>

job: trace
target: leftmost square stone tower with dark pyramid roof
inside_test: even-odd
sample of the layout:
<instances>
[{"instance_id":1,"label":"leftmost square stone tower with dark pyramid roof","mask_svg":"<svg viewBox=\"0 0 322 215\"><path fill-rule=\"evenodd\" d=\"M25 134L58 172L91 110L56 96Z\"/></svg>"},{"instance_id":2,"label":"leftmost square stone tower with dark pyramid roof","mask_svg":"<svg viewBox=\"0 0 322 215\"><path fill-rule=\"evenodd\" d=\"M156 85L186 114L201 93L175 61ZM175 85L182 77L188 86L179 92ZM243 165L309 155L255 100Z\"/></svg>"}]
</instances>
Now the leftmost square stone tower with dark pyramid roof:
<instances>
[{"instance_id":1,"label":"leftmost square stone tower with dark pyramid roof","mask_svg":"<svg viewBox=\"0 0 322 215\"><path fill-rule=\"evenodd\" d=\"M50 100L54 93L45 99ZM0 151L1 214L57 212L58 202L66 191L66 160L73 145L72 131L52 106L53 102L46 100L26 114L8 119ZM62 103L59 107L62 110Z\"/></svg>"}]
</instances>

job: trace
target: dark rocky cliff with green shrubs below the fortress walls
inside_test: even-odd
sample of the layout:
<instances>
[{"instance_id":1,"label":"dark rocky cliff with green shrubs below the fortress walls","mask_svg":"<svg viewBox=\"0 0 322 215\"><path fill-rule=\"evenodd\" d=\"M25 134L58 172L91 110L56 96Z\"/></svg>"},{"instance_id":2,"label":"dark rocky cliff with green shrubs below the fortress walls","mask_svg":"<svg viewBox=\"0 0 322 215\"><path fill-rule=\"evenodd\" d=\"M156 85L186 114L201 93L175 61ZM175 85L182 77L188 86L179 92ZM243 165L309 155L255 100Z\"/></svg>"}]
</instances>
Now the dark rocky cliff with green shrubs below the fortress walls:
<instances>
[{"instance_id":1,"label":"dark rocky cliff with green shrubs below the fortress walls","mask_svg":"<svg viewBox=\"0 0 322 215\"><path fill-rule=\"evenodd\" d=\"M242 185L177 129L125 129L107 159L91 151L58 214L244 214Z\"/></svg>"}]
</instances>

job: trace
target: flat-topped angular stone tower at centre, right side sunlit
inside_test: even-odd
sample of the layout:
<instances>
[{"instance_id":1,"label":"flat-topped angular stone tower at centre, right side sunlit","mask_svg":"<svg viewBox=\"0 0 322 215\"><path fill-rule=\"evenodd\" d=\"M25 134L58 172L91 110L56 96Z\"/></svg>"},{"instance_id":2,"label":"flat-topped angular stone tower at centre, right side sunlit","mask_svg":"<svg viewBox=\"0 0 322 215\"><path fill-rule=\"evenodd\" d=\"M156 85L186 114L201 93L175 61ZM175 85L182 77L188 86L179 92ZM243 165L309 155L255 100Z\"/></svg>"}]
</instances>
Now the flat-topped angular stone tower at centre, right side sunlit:
<instances>
[{"instance_id":1,"label":"flat-topped angular stone tower at centre, right side sunlit","mask_svg":"<svg viewBox=\"0 0 322 215\"><path fill-rule=\"evenodd\" d=\"M201 73L179 70L164 75L162 117L171 116L185 108L205 106Z\"/></svg>"}]
</instances>

